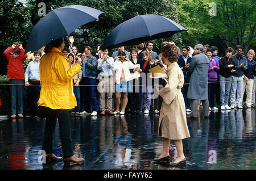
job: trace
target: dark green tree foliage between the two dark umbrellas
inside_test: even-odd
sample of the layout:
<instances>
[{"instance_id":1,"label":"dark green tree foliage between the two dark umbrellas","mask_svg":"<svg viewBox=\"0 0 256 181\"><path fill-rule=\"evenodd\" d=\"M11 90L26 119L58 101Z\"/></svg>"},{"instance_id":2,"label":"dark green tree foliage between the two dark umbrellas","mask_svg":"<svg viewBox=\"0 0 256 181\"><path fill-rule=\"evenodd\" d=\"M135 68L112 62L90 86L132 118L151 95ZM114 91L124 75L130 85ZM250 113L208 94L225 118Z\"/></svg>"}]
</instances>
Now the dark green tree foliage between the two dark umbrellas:
<instances>
[{"instance_id":1,"label":"dark green tree foliage between the two dark umbrellas","mask_svg":"<svg viewBox=\"0 0 256 181\"><path fill-rule=\"evenodd\" d=\"M98 10L104 11L98 21L88 23L80 28L79 32L74 32L74 36L80 37L83 41L80 44L92 45L96 49L98 43L102 43L106 36L114 27L134 16L144 14L162 15L177 21L176 8L173 1L168 0L81 0L77 1L81 5L90 5ZM136 27L135 27L136 28ZM139 31L139 30L138 30ZM180 41L179 36L171 37L170 40ZM155 50L160 51L160 44L163 40L155 40ZM130 50L132 46L127 47Z\"/></svg>"}]
</instances>

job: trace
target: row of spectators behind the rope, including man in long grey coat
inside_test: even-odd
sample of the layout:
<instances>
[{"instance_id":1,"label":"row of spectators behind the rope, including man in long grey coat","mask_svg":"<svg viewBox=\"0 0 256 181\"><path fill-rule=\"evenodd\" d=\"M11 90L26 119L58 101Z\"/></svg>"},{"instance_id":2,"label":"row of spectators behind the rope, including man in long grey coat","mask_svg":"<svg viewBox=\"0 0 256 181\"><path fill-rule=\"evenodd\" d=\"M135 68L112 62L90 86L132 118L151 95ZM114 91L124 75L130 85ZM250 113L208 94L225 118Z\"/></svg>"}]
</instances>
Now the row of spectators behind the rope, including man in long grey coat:
<instances>
[{"instance_id":1,"label":"row of spectators behind the rope, including man in long grey coat","mask_svg":"<svg viewBox=\"0 0 256 181\"><path fill-rule=\"evenodd\" d=\"M71 62L70 68L75 64L75 60L80 59L82 62L82 69L72 78L72 92L77 106L70 111L71 116L123 115L125 112L149 113L150 110L160 113L163 99L161 96L152 96L152 92L156 87L163 87L160 83L155 84L162 78L156 80L150 74L150 69L159 65L167 71L167 66L164 64L162 53L158 54L152 50L153 41L148 41L146 47L143 43L139 44L130 52L125 47L118 47L112 56L109 55L108 49L100 49L101 44L98 44L96 54L93 54L89 46L80 53L73 45L75 39L72 36L69 41L69 48L65 47L62 53ZM174 43L165 41L162 48L167 44ZM203 104L206 117L209 111L243 108L243 103L246 108L254 107L254 50L251 49L246 54L240 45L237 45L235 52L233 48L228 47L226 56L220 58L217 56L218 48L207 44L195 49L185 46L180 52L177 64L184 74L181 91L185 110L188 113L192 111L192 118L196 117L200 104ZM9 62L7 78L10 78L11 85L11 117L23 117L23 81L27 86L28 95L26 116L36 116L41 89L39 64L40 57L45 54L44 47L34 53L24 54L21 44L12 45L4 54ZM200 60L195 61L198 58ZM31 61L23 73L23 62L26 59ZM207 84L203 83L202 86L202 82Z\"/></svg>"}]
</instances>

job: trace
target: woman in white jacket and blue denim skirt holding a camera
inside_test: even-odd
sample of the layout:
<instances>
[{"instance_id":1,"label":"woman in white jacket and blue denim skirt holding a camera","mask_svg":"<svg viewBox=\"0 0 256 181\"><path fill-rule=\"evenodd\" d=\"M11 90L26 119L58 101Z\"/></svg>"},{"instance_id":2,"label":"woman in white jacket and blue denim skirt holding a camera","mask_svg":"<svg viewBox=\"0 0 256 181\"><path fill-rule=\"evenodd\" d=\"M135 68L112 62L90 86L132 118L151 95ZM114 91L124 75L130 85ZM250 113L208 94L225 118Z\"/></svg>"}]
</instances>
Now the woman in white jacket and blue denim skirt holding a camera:
<instances>
[{"instance_id":1,"label":"woman in white jacket and blue denim skirt holding a camera","mask_svg":"<svg viewBox=\"0 0 256 181\"><path fill-rule=\"evenodd\" d=\"M114 68L115 71L115 112L114 114L120 113L125 114L125 108L128 102L128 92L131 91L131 74L130 69L139 71L130 60L125 52L119 52L118 56L115 57ZM123 105L121 112L119 111L121 93L123 93Z\"/></svg>"}]
</instances>

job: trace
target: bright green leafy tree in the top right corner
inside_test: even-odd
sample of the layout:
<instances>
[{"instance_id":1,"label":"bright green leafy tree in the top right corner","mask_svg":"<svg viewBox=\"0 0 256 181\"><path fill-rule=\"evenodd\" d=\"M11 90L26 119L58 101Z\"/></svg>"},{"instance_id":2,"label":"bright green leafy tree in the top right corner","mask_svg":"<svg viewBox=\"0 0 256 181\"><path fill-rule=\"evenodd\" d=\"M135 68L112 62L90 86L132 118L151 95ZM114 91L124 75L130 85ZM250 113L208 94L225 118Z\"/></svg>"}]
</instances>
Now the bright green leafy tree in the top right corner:
<instances>
[{"instance_id":1,"label":"bright green leafy tree in the top right corner","mask_svg":"<svg viewBox=\"0 0 256 181\"><path fill-rule=\"evenodd\" d=\"M212 19L212 30L224 47L242 45L244 52L247 52L250 46L255 46L255 1L215 0L213 2L217 5L217 16Z\"/></svg>"}]
</instances>

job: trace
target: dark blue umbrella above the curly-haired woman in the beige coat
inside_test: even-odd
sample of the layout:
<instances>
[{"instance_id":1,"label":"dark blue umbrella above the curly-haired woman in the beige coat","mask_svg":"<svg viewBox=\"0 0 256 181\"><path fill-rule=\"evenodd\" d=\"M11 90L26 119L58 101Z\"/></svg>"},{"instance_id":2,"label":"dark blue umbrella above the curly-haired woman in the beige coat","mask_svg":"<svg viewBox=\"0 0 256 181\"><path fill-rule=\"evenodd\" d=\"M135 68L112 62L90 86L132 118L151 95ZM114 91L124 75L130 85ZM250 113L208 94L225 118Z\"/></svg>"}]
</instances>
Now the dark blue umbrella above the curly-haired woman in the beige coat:
<instances>
[{"instance_id":1,"label":"dark blue umbrella above the curly-haired woman in the beige coat","mask_svg":"<svg viewBox=\"0 0 256 181\"><path fill-rule=\"evenodd\" d=\"M187 31L187 29L163 16L152 14L135 16L115 27L104 40L101 49L140 44L170 37L181 31Z\"/></svg>"}]
</instances>

